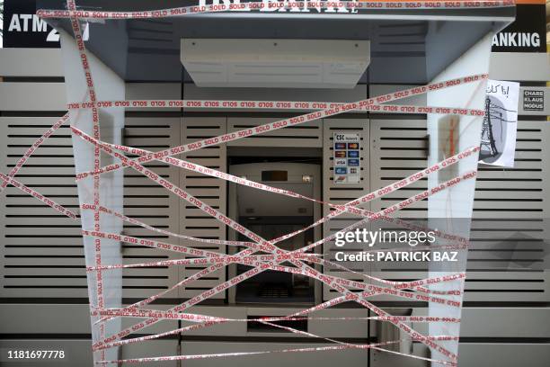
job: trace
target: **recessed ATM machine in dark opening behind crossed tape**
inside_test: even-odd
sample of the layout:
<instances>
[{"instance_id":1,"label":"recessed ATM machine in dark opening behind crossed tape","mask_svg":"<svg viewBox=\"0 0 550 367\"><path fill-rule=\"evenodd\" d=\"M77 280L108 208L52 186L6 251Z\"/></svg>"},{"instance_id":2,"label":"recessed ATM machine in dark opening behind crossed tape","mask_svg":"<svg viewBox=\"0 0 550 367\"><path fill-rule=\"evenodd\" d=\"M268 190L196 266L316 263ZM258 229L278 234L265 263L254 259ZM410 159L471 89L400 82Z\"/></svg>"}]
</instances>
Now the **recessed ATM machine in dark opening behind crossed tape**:
<instances>
[{"instance_id":1,"label":"recessed ATM machine in dark opening behind crossed tape","mask_svg":"<svg viewBox=\"0 0 550 367\"><path fill-rule=\"evenodd\" d=\"M272 187L297 192L309 198L320 197L321 166L292 162L245 163L229 166L229 173L239 177L265 183ZM313 201L297 200L272 192L262 192L253 188L230 183L228 210L231 217L245 228L263 238L275 239L298 229L306 228L321 218L321 204ZM319 227L312 228L279 242L278 246L287 251L295 251L320 239ZM246 240L243 235L230 238ZM236 253L244 248L232 249ZM321 253L321 247L315 249ZM249 267L232 265L229 276L244 273ZM293 273L267 271L238 284L229 291L229 302L239 303L280 303L309 304L321 300L321 287L315 290L315 282L305 276Z\"/></svg>"}]
</instances>

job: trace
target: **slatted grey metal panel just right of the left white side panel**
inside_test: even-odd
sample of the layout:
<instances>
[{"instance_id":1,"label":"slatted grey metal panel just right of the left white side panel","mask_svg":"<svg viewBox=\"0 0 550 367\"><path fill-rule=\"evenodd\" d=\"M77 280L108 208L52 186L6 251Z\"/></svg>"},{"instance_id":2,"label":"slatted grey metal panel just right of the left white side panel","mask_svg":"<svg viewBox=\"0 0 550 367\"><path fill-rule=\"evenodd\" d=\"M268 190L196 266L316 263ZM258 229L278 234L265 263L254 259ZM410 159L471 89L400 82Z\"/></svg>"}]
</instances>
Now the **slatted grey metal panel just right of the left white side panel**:
<instances>
[{"instance_id":1,"label":"slatted grey metal panel just right of the left white side panel","mask_svg":"<svg viewBox=\"0 0 550 367\"><path fill-rule=\"evenodd\" d=\"M124 142L130 147L151 151L163 150L180 143L179 117L129 117L124 129ZM179 185L179 170L176 167L153 161L145 165L156 174ZM124 173L124 213L148 225L171 232L179 231L179 200L164 187L145 175L127 168ZM140 226L125 223L124 233L129 236L155 239L178 244L177 237L168 237ZM175 253L145 246L123 244L125 264L161 261L180 256ZM123 296L146 297L164 291L178 279L177 267L125 269L123 273ZM177 298L177 291L167 294Z\"/></svg>"}]
</instances>

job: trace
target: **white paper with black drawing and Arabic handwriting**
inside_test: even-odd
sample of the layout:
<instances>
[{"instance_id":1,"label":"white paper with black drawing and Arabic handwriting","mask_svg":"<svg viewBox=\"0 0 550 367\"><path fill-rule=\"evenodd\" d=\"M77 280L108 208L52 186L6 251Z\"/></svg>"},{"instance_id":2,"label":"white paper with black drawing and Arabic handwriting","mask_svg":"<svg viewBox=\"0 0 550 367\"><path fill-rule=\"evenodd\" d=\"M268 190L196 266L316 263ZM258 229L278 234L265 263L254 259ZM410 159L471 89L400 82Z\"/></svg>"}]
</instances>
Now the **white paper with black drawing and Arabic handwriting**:
<instances>
[{"instance_id":1,"label":"white paper with black drawing and Arabic handwriting","mask_svg":"<svg viewBox=\"0 0 550 367\"><path fill-rule=\"evenodd\" d=\"M514 166L518 129L519 83L487 81L480 161L493 166Z\"/></svg>"}]
</instances>

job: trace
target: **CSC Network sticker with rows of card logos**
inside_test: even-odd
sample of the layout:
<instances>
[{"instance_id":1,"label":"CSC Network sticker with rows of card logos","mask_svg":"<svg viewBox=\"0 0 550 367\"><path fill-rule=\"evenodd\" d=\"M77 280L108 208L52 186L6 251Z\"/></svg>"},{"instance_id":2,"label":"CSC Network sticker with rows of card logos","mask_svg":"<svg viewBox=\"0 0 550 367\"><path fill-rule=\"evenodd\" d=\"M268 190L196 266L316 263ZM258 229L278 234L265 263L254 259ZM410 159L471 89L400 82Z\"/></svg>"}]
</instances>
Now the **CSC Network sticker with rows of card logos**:
<instances>
[{"instance_id":1,"label":"CSC Network sticker with rows of card logos","mask_svg":"<svg viewBox=\"0 0 550 367\"><path fill-rule=\"evenodd\" d=\"M335 132L333 139L334 183L359 183L360 134Z\"/></svg>"}]
</instances>

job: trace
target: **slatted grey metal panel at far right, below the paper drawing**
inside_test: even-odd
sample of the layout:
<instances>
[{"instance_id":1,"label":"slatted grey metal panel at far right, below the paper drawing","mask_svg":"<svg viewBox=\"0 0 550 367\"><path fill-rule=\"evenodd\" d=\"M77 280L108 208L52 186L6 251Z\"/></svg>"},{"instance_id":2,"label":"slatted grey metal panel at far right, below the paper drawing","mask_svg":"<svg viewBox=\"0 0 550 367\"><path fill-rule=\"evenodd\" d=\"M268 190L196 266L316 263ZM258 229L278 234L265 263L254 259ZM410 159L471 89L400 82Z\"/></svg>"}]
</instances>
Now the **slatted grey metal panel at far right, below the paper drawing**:
<instances>
[{"instance_id":1,"label":"slatted grey metal panel at far right, below the paper drawing","mask_svg":"<svg viewBox=\"0 0 550 367\"><path fill-rule=\"evenodd\" d=\"M514 168L478 167L465 300L550 301L548 141L519 121Z\"/></svg>"}]
</instances>

